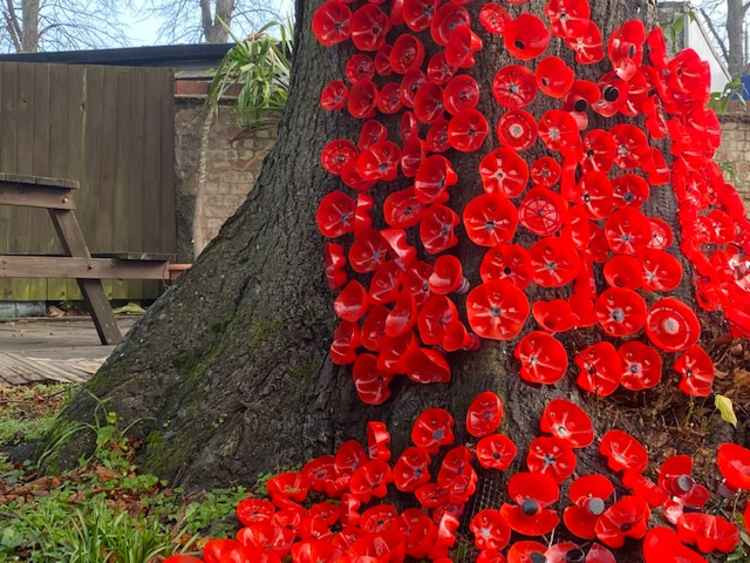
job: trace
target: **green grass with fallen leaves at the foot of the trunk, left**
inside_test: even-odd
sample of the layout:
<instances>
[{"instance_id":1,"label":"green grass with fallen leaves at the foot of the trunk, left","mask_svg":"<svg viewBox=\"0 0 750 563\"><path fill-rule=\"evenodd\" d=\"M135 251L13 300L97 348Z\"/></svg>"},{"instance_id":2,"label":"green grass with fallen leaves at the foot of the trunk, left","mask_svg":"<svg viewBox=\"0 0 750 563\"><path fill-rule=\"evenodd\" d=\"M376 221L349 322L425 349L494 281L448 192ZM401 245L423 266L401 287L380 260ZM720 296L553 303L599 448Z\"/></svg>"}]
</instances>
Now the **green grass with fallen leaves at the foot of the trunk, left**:
<instances>
[{"instance_id":1,"label":"green grass with fallen leaves at the foot of the trunk, left","mask_svg":"<svg viewBox=\"0 0 750 563\"><path fill-rule=\"evenodd\" d=\"M234 506L245 489L186 495L136 471L136 444L100 404L91 425L61 425L56 415L72 386L0 387L0 451L53 430L58 444L92 432L97 448L72 471L43 475L35 464L0 455L0 562L150 563L197 552L200 538L234 535ZM56 454L53 445L46 453Z\"/></svg>"}]
</instances>

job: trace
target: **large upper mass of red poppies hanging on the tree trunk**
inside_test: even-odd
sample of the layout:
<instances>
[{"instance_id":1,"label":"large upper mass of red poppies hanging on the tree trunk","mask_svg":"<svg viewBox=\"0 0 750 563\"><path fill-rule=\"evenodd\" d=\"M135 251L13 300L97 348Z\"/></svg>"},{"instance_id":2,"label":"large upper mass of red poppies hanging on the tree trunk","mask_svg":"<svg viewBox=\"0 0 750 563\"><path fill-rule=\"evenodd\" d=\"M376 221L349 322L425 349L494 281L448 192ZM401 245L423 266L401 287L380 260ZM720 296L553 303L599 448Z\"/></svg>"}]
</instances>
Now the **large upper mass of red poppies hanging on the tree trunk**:
<instances>
[{"instance_id":1,"label":"large upper mass of red poppies hanging on the tree trunk","mask_svg":"<svg viewBox=\"0 0 750 563\"><path fill-rule=\"evenodd\" d=\"M476 349L480 338L512 340L533 316L540 330L515 352L529 382L553 384L566 373L558 333L598 326L609 337L631 338L645 329L649 344L603 342L581 351L579 385L600 396L619 386L654 387L662 378L662 353L676 352L682 354L674 363L680 389L709 395L714 366L698 344L699 319L688 304L663 295L684 283L672 228L643 211L652 187L672 184L679 246L694 270L700 307L723 311L736 334L749 335L750 221L712 162L720 128L706 107L707 63L690 49L669 58L661 30L647 32L639 20L625 22L605 44L588 0L549 0L548 25L534 14L513 17L499 4L485 4L478 17L484 31L502 36L512 57L535 60L535 68L510 64L497 71L491 95L505 110L495 127L500 146L481 159L484 193L460 216L448 205L459 182L450 151L479 151L491 130L477 109L479 84L467 73L483 42L464 4L392 0L355 9L327 0L313 16L322 45L351 40L357 49L345 65L346 79L324 86L321 106L363 120L356 143L334 139L321 154L325 170L355 192L332 191L316 217L325 237L351 241L325 246L340 319L333 361L353 364L361 400L381 404L396 375L449 381L446 353ZM562 59L543 55L555 39L579 65L608 57L611 70L597 81L577 78ZM527 109L541 95L560 108L537 120ZM400 142L389 138L378 113L400 113ZM593 129L593 117L620 122ZM623 117L641 119L644 130L621 123ZM650 140L671 141L671 167ZM521 153L529 149L546 154L528 163ZM409 187L388 193L385 228L375 226L372 189L402 178ZM482 283L473 288L461 262L447 254L458 244L461 223L487 249ZM537 237L529 248L513 242L519 226ZM598 271L608 285L601 292ZM525 293L530 284L572 287L568 298L532 306ZM467 292L470 329L454 301Z\"/></svg>"}]
</instances>

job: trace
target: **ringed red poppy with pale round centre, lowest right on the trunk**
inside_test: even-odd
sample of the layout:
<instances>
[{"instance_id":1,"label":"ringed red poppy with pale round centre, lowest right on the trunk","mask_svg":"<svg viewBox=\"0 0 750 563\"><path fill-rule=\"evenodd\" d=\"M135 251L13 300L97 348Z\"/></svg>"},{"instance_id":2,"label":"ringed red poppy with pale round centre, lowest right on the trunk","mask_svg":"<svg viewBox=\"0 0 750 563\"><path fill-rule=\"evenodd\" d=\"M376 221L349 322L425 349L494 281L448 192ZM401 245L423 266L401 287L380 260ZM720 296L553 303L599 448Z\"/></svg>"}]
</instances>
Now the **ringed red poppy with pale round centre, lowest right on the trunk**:
<instances>
[{"instance_id":1,"label":"ringed red poppy with pale round centre, lowest right on the trunk","mask_svg":"<svg viewBox=\"0 0 750 563\"><path fill-rule=\"evenodd\" d=\"M682 352L698 342L700 322L693 310L679 299L665 297L651 306L646 334L653 344L667 352Z\"/></svg>"}]
</instances>

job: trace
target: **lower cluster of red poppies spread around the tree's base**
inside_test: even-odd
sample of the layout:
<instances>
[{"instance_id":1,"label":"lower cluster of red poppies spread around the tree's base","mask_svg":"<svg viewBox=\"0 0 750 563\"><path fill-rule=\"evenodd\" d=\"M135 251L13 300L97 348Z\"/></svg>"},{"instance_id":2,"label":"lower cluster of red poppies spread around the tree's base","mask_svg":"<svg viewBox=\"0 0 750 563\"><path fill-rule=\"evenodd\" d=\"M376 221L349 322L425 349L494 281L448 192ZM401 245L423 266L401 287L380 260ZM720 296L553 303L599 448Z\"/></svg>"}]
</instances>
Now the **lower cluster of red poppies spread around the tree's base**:
<instances>
[{"instance_id":1,"label":"lower cluster of red poppies spread around the tree's base","mask_svg":"<svg viewBox=\"0 0 750 563\"><path fill-rule=\"evenodd\" d=\"M466 413L471 442L456 445L451 413L427 409L412 426L413 446L393 463L386 425L369 422L366 448L346 441L335 455L272 477L267 483L270 500L241 501L236 513L243 527L236 539L209 541L203 561L273 563L291 555L295 563L388 563L407 556L449 563L460 518L477 489L477 464L505 471L517 457L513 441L498 433L503 414L497 395L479 394ZM705 561L688 546L703 553L731 553L737 547L737 526L703 512L712 494L693 479L690 456L667 458L653 481L645 474L646 448L626 432L609 430L599 440L598 451L617 479L590 474L568 483L576 470L575 451L594 443L591 420L574 403L555 399L544 409L539 429L541 436L527 448L526 471L508 480L508 502L479 510L471 519L478 562L610 563L615 561L610 549L622 548L628 538L643 540L646 563ZM750 450L723 444L717 466L724 478L724 496L750 491ZM393 504L380 502L390 486L413 495L419 507L399 512ZM551 534L560 524L559 510L565 528L579 543L518 539ZM652 511L663 525L651 527ZM511 544L513 534L518 541ZM189 561L200 560L167 560Z\"/></svg>"}]
</instances>

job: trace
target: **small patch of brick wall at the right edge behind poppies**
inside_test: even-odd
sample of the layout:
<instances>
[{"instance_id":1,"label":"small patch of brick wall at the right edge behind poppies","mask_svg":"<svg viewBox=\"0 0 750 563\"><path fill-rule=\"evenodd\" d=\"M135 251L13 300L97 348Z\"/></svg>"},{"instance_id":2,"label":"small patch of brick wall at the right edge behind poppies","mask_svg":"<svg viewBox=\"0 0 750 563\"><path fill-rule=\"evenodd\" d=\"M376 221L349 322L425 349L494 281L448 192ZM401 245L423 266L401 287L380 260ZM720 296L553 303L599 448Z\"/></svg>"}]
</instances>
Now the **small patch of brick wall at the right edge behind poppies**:
<instances>
[{"instance_id":1,"label":"small patch of brick wall at the right edge behind poppies","mask_svg":"<svg viewBox=\"0 0 750 563\"><path fill-rule=\"evenodd\" d=\"M715 160L744 197L750 212L750 112L721 116L721 147Z\"/></svg>"}]
</instances>

